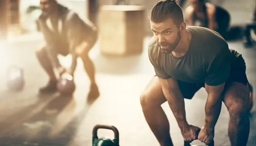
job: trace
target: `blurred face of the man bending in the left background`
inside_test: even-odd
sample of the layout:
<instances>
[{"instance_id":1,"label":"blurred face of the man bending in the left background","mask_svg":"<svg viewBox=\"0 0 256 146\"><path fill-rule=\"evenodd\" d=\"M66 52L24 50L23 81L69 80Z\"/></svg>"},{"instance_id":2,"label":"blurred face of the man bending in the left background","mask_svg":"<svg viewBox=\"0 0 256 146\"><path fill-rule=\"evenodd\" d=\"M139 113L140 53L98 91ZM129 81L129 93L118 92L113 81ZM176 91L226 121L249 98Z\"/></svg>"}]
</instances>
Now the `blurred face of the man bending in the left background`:
<instances>
[{"instance_id":1,"label":"blurred face of the man bending in the left background","mask_svg":"<svg viewBox=\"0 0 256 146\"><path fill-rule=\"evenodd\" d=\"M44 15L51 14L56 8L55 0L40 0L40 8Z\"/></svg>"}]
</instances>

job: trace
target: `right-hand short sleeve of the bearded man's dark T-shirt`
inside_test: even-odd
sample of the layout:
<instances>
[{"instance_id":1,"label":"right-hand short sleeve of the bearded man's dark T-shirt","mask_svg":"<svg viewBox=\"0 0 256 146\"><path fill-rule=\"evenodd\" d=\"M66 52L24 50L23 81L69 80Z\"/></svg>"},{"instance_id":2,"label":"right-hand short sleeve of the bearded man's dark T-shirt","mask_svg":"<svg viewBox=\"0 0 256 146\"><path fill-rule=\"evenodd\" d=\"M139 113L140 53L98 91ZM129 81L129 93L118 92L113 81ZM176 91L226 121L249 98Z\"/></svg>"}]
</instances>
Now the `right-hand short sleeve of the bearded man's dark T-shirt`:
<instances>
[{"instance_id":1,"label":"right-hand short sleeve of the bearded man's dark T-shirt","mask_svg":"<svg viewBox=\"0 0 256 146\"><path fill-rule=\"evenodd\" d=\"M225 45L225 47L228 47ZM230 60L229 48L224 48L220 53L214 55L209 62L206 72L205 83L209 86L218 86L226 82L229 77Z\"/></svg>"}]
</instances>

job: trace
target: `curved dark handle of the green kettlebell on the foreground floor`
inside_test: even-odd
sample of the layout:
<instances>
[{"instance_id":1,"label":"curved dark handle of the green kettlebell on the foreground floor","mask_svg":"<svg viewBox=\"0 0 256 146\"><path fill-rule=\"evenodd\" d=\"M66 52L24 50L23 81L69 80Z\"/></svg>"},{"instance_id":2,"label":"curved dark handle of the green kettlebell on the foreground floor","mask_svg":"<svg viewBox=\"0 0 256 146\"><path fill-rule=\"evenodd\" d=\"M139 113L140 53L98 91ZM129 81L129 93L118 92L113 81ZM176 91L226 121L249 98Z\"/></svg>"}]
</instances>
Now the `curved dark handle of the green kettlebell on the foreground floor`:
<instances>
[{"instance_id":1,"label":"curved dark handle of the green kettlebell on the foreground floor","mask_svg":"<svg viewBox=\"0 0 256 146\"><path fill-rule=\"evenodd\" d=\"M92 136L93 139L94 138L98 138L98 129L109 129L112 130L115 134L115 139L114 141L119 145L119 131L115 126L111 126L111 125L95 125L93 130L92 130Z\"/></svg>"}]
</instances>

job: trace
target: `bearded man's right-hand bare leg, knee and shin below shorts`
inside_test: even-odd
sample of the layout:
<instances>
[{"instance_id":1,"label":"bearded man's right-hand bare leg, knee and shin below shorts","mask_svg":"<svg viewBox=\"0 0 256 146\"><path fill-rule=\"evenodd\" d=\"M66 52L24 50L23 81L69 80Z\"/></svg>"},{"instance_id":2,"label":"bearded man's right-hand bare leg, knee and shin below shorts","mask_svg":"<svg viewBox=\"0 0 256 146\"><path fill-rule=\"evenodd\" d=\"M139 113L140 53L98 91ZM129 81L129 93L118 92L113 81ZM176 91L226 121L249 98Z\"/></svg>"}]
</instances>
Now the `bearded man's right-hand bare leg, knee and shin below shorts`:
<instances>
[{"instance_id":1,"label":"bearded man's right-hand bare leg, knee and shin below shorts","mask_svg":"<svg viewBox=\"0 0 256 146\"><path fill-rule=\"evenodd\" d=\"M223 101L229 110L229 139L231 146L246 146L250 122L248 117L249 87L239 82L227 85Z\"/></svg>"}]
</instances>

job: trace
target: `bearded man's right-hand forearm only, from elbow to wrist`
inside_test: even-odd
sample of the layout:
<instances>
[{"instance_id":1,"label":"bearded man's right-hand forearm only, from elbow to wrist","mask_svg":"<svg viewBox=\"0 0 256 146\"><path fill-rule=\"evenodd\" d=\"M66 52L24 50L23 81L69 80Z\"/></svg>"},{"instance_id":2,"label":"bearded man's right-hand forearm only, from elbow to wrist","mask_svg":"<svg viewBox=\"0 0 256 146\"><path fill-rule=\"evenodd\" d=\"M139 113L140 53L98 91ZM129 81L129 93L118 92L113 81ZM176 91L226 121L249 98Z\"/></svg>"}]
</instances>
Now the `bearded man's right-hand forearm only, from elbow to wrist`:
<instances>
[{"instance_id":1,"label":"bearded man's right-hand forearm only, from elbow to wrist","mask_svg":"<svg viewBox=\"0 0 256 146\"><path fill-rule=\"evenodd\" d=\"M221 95L208 94L205 105L205 127L213 130L221 111Z\"/></svg>"}]
</instances>

